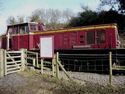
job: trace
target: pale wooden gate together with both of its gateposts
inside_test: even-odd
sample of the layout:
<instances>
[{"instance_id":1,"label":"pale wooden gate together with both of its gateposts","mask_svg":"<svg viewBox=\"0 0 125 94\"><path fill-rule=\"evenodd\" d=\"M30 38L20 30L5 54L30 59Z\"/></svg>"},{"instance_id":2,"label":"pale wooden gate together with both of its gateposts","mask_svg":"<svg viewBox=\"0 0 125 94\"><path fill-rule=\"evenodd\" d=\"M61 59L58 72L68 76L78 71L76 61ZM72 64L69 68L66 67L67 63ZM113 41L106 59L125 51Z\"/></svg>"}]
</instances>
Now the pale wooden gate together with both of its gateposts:
<instances>
[{"instance_id":1,"label":"pale wooden gate together with both of its gateposts","mask_svg":"<svg viewBox=\"0 0 125 94\"><path fill-rule=\"evenodd\" d=\"M20 51L6 51L0 49L0 75L8 75L10 73L24 71L25 69L25 49Z\"/></svg>"}]
</instances>

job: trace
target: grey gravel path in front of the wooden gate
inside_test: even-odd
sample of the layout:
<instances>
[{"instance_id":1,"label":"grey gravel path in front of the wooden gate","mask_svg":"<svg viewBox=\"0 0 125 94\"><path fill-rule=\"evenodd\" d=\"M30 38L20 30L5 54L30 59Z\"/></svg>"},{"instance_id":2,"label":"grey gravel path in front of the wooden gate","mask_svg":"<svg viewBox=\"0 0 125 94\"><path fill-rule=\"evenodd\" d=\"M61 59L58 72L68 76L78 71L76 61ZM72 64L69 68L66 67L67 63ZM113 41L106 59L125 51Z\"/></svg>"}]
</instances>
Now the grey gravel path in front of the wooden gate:
<instances>
[{"instance_id":1,"label":"grey gravel path in front of the wooden gate","mask_svg":"<svg viewBox=\"0 0 125 94\"><path fill-rule=\"evenodd\" d=\"M4 76L0 79L0 86L3 86L4 88L16 87L18 85L23 87L26 84L26 79L16 73Z\"/></svg>"}]
</instances>

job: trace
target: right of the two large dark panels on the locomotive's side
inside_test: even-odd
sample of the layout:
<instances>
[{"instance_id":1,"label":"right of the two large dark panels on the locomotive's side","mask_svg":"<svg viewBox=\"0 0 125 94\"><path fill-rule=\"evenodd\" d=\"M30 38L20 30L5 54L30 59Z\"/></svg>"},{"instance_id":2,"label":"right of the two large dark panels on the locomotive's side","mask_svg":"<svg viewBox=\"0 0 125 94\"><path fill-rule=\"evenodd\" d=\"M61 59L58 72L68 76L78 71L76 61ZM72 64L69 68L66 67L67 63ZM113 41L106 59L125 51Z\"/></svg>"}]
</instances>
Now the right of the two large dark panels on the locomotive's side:
<instances>
[{"instance_id":1,"label":"right of the two large dark panels on the locomotive's side","mask_svg":"<svg viewBox=\"0 0 125 94\"><path fill-rule=\"evenodd\" d=\"M105 31L97 31L97 44L105 43Z\"/></svg>"}]
</instances>

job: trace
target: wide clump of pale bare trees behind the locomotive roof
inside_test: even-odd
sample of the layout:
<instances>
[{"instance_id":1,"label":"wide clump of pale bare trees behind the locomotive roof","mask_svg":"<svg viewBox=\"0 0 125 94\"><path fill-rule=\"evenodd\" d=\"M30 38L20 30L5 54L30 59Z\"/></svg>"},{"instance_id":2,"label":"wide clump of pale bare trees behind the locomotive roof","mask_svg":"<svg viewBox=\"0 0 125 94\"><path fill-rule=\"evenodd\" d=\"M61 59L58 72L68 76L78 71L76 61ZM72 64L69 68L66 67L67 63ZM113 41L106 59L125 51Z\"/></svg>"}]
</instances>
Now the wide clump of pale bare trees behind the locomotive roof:
<instances>
[{"instance_id":1,"label":"wide clump of pale bare trees behind the locomotive roof","mask_svg":"<svg viewBox=\"0 0 125 94\"><path fill-rule=\"evenodd\" d=\"M64 27L64 24L68 23L73 16L74 13L69 9L63 11L51 8L36 9L31 16L27 17L27 21L44 23L47 29L58 29L61 25Z\"/></svg>"}]
</instances>

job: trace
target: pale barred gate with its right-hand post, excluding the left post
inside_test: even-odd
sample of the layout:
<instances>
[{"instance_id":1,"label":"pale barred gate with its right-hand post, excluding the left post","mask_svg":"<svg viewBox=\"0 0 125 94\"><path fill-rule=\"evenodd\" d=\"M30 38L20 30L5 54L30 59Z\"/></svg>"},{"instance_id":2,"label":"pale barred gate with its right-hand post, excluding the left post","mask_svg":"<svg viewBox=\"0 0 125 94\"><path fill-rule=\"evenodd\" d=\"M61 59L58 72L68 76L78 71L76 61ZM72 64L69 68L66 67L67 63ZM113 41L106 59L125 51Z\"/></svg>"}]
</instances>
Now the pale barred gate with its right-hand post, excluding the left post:
<instances>
[{"instance_id":1,"label":"pale barred gate with its right-hand post, excluding the left post","mask_svg":"<svg viewBox=\"0 0 125 94\"><path fill-rule=\"evenodd\" d=\"M5 55L5 75L24 70L25 53L23 49L21 49L20 51L4 50L4 55Z\"/></svg>"}]
</instances>

